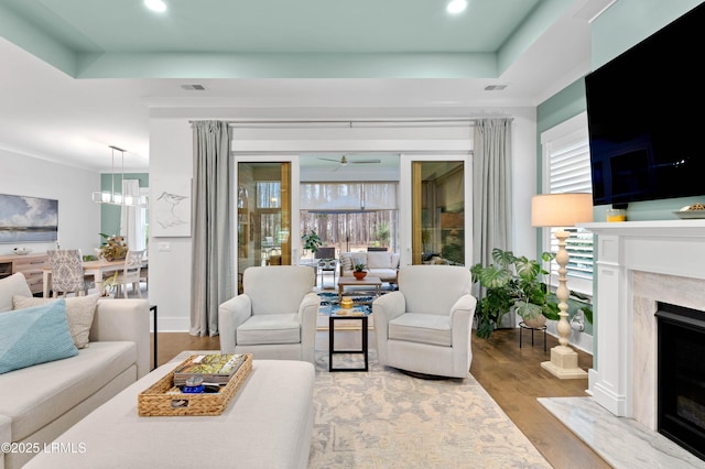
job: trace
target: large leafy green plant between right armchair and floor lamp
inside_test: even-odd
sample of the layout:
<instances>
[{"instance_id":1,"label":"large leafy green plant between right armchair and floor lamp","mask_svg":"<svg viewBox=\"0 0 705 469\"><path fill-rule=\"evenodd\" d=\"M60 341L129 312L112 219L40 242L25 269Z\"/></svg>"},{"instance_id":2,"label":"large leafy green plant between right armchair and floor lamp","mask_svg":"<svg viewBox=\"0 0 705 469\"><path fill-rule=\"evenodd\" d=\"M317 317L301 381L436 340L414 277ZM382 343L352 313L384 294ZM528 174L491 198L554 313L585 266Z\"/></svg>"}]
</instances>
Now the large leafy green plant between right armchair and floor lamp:
<instances>
[{"instance_id":1,"label":"large leafy green plant between right armchair and floor lamp","mask_svg":"<svg viewBox=\"0 0 705 469\"><path fill-rule=\"evenodd\" d=\"M543 252L541 260L550 262L555 254ZM558 319L555 297L543 282L547 274L541 263L527 257L516 257L511 251L492 250L490 265L475 264L470 269L473 282L484 288L477 304L477 336L488 338L501 323L502 316L514 310L529 327L541 327L545 319Z\"/></svg>"}]
</instances>

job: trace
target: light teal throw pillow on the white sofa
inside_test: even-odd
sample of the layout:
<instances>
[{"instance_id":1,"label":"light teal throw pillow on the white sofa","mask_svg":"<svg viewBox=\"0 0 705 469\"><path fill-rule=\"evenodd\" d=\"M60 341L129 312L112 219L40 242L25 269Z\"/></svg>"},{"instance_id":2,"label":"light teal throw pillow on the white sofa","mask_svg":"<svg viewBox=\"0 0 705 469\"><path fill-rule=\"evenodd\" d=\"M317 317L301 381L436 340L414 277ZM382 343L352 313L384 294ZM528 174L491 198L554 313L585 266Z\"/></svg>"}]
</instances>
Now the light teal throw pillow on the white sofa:
<instances>
[{"instance_id":1,"label":"light teal throw pillow on the white sofa","mask_svg":"<svg viewBox=\"0 0 705 469\"><path fill-rule=\"evenodd\" d=\"M0 373L78 355L66 301L0 314Z\"/></svg>"}]
</instances>

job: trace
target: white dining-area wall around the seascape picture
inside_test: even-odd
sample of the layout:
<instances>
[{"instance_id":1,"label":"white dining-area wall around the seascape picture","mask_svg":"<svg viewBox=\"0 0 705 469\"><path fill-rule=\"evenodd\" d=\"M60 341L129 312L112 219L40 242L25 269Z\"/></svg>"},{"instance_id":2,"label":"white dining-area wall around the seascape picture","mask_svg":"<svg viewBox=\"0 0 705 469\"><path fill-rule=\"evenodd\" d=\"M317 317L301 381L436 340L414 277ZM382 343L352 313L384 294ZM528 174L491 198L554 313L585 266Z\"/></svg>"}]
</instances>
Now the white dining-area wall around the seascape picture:
<instances>
[{"instance_id":1,"label":"white dining-area wall around the seascape picture","mask_svg":"<svg viewBox=\"0 0 705 469\"><path fill-rule=\"evenodd\" d=\"M97 172L0 149L0 193L58 200L58 239L64 249L93 254L100 246L100 206L90 198L99 189ZM17 247L44 252L56 244L0 244L0 254L10 254Z\"/></svg>"}]
</instances>

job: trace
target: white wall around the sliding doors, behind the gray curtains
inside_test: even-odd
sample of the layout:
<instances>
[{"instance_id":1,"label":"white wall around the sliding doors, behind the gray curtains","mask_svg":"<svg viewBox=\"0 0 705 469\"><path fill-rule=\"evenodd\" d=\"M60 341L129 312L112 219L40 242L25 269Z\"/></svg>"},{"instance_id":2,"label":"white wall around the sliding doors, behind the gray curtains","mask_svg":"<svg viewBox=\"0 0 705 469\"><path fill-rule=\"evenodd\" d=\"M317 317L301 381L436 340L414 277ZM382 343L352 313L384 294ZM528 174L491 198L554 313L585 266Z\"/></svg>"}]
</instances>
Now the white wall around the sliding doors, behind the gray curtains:
<instances>
[{"instance_id":1,"label":"white wall around the sliding doors, behind the gray curtains","mask_svg":"<svg viewBox=\"0 0 705 469\"><path fill-rule=\"evenodd\" d=\"M491 110L489 110L491 111ZM488 111L488 112L489 112ZM497 110L496 110L497 112ZM496 114L495 112L495 114ZM513 200L514 252L535 252L535 230L530 222L530 199L535 194L536 121L534 108L501 109L513 122ZM150 195L159 192L161 179L191 179L191 117L152 117L150 123ZM419 151L458 152L471 148L471 129L372 129L370 133L326 129L324 132L290 132L282 129L247 129L236 132L234 150L242 153L296 153L312 151ZM400 200L409 206L410 200ZM292 233L295 236L295 233ZM187 331L191 315L191 238L152 238L150 240L150 302L159 306L161 331Z\"/></svg>"}]
</instances>

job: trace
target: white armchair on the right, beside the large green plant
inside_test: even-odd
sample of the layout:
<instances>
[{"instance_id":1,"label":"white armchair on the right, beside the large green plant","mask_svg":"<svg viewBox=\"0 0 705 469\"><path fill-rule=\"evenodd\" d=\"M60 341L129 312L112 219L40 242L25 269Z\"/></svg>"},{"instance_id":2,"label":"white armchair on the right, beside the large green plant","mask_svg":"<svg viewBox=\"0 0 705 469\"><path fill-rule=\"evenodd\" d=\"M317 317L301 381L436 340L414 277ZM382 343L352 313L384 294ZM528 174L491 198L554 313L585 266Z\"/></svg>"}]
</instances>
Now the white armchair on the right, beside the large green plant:
<instances>
[{"instance_id":1,"label":"white armchair on the right, beside the large green plant","mask_svg":"<svg viewBox=\"0 0 705 469\"><path fill-rule=\"evenodd\" d=\"M372 303L377 358L415 373L467 378L477 301L470 271L458 265L405 265L399 291Z\"/></svg>"}]
</instances>

